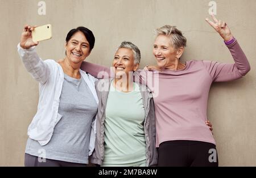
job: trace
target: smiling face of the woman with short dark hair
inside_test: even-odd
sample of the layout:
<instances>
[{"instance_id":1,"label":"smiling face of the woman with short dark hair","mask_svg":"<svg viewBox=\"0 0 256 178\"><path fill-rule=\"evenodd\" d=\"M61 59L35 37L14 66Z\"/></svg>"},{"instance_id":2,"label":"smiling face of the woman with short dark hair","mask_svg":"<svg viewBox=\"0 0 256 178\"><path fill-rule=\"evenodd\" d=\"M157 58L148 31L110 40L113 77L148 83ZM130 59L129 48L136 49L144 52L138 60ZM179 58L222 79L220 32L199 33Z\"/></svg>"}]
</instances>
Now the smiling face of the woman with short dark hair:
<instances>
[{"instance_id":1,"label":"smiling face of the woman with short dark hair","mask_svg":"<svg viewBox=\"0 0 256 178\"><path fill-rule=\"evenodd\" d=\"M90 54L90 45L84 33L78 31L65 45L67 59L72 63L81 63Z\"/></svg>"}]
</instances>

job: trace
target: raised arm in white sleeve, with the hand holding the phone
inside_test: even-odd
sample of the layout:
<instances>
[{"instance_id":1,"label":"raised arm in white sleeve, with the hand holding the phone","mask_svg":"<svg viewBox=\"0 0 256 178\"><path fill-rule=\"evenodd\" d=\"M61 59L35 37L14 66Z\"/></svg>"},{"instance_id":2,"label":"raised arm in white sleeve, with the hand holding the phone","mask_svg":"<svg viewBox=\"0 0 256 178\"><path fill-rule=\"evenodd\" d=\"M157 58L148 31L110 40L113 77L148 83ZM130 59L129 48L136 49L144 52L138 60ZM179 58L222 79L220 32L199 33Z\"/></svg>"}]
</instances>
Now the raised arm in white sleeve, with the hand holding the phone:
<instances>
[{"instance_id":1,"label":"raised arm in white sleeve, with the hand holding the phone","mask_svg":"<svg viewBox=\"0 0 256 178\"><path fill-rule=\"evenodd\" d=\"M32 77L41 84L46 83L49 77L49 68L36 53L35 46L38 42L32 41L32 31L34 27L25 26L18 44L18 53L24 66Z\"/></svg>"}]
</instances>

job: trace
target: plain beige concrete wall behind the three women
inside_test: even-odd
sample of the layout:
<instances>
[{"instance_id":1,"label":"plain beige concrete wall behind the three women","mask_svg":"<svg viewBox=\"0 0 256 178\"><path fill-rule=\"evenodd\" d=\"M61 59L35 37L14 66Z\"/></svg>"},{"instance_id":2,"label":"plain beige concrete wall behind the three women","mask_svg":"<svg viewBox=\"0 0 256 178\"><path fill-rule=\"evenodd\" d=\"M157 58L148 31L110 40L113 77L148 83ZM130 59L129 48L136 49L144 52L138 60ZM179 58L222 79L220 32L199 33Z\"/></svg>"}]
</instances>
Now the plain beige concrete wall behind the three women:
<instances>
[{"instance_id":1,"label":"plain beige concrete wall behind the three women","mask_svg":"<svg viewBox=\"0 0 256 178\"><path fill-rule=\"evenodd\" d=\"M133 41L142 51L141 67L154 63L152 31L164 24L179 27L188 39L184 60L233 62L216 32L204 21L209 0L46 0L38 15L36 0L0 0L0 166L23 166L27 127L36 113L38 83L24 69L16 52L24 24L51 23L52 40L38 46L43 59L64 57L69 29L85 26L96 46L88 61L110 65L115 48ZM208 116L220 166L256 166L256 1L218 0L217 17L224 19L249 58L251 71L235 82L213 84Z\"/></svg>"}]
</instances>

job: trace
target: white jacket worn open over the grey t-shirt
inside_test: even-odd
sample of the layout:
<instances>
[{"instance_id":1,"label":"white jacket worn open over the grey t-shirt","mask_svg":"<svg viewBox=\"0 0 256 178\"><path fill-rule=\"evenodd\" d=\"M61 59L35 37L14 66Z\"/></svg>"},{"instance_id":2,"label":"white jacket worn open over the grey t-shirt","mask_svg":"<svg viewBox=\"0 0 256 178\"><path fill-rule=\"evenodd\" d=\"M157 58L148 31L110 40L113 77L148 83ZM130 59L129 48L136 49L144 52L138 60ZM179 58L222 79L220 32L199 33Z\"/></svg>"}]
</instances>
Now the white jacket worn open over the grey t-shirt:
<instances>
[{"instance_id":1,"label":"white jacket worn open over the grey t-shirt","mask_svg":"<svg viewBox=\"0 0 256 178\"><path fill-rule=\"evenodd\" d=\"M18 53L27 71L39 82L38 111L28 127L27 134L31 139L38 141L40 145L44 146L51 140L55 125L62 117L58 110L64 82L64 72L59 63L54 60L42 61L36 53L35 46L30 49L23 49L18 44ZM97 79L82 70L80 70L80 74L90 88L90 91L92 91L94 99L98 104L94 85ZM90 133L89 155L93 152L95 137L96 121L93 120Z\"/></svg>"}]
</instances>

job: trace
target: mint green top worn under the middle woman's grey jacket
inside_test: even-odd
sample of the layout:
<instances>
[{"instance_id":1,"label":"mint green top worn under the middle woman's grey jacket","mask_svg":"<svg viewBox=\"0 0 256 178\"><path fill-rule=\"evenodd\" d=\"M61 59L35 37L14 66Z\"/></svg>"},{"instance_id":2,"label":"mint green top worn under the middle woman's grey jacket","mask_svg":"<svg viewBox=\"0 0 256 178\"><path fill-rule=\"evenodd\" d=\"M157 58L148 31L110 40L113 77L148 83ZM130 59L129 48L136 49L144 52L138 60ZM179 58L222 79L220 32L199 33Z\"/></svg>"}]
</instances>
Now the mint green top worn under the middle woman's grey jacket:
<instances>
[{"instance_id":1,"label":"mint green top worn under the middle woman's grey jacket","mask_svg":"<svg viewBox=\"0 0 256 178\"><path fill-rule=\"evenodd\" d=\"M139 86L118 91L110 85L106 104L105 158L102 166L146 166L144 105Z\"/></svg>"}]
</instances>

